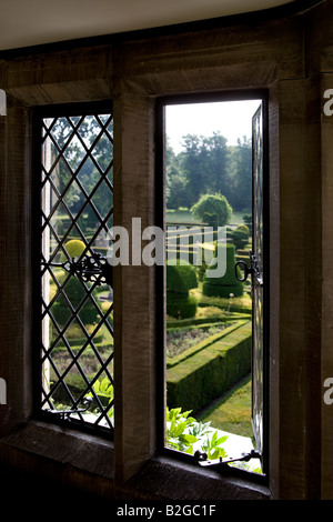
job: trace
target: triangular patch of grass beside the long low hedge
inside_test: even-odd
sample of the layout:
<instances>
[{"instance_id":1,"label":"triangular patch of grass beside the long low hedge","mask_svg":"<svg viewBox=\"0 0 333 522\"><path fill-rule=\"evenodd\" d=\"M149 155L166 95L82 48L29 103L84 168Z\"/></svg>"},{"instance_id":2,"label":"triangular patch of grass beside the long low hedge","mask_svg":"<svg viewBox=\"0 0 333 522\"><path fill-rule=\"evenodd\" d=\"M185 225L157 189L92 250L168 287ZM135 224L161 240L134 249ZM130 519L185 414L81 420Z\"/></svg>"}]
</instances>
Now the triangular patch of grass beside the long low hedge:
<instances>
[{"instance_id":1,"label":"triangular patch of grass beside the long low hedge","mask_svg":"<svg viewBox=\"0 0 333 522\"><path fill-rule=\"evenodd\" d=\"M221 399L209 406L200 421L236 435L253 439L251 423L251 375L248 375Z\"/></svg>"}]
</instances>

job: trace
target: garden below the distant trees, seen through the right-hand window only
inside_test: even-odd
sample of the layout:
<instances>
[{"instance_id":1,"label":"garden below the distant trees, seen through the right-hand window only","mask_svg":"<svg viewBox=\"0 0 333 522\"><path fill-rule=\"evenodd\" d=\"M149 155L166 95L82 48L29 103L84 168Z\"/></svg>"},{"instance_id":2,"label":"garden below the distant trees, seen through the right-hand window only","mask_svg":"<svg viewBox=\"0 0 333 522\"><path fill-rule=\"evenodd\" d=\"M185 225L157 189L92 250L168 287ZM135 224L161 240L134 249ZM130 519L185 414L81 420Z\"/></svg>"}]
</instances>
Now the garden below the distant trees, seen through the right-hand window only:
<instances>
[{"instance_id":1,"label":"garden below the distant trees, seen through the right-hand window only","mask_svg":"<svg viewBox=\"0 0 333 522\"><path fill-rule=\"evenodd\" d=\"M169 212L167 219L184 229L194 223L185 209ZM209 279L206 264L167 261L167 444L192 454L201 444L214 459L234 448L254 445L251 282L239 282L234 274L238 260L249 263L249 221L244 215L241 224L228 227L226 241L219 245L226 251L221 278ZM190 260L195 258L195 248L215 252L218 248L215 240L183 244ZM260 472L258 460L235 465Z\"/></svg>"}]
</instances>

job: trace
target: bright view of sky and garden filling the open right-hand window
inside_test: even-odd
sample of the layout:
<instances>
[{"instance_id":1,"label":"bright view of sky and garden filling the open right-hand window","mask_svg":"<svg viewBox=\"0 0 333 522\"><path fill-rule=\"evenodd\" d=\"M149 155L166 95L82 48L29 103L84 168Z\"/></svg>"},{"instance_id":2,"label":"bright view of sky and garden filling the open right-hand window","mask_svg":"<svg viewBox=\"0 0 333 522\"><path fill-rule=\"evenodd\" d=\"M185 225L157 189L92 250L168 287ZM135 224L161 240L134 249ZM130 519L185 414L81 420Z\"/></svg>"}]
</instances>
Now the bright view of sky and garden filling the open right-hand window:
<instances>
[{"instance_id":1,"label":"bright view of sky and garden filling the open right-hand window","mask_svg":"<svg viewBox=\"0 0 333 522\"><path fill-rule=\"evenodd\" d=\"M259 100L165 106L167 448L255 448L251 422L252 116ZM238 465L260 472L259 459Z\"/></svg>"}]
</instances>

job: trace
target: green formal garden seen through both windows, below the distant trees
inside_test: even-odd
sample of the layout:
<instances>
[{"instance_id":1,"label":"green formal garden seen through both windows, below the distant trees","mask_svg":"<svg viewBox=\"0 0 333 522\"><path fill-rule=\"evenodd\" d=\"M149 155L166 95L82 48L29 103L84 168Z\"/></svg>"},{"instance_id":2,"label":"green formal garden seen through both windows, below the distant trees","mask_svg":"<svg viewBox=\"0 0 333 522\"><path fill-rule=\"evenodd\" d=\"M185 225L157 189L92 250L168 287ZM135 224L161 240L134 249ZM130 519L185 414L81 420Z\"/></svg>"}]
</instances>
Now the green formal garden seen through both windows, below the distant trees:
<instances>
[{"instance_id":1,"label":"green formal garden seen through both windows, below the distant trees","mask_svg":"<svg viewBox=\"0 0 333 522\"><path fill-rule=\"evenodd\" d=\"M226 271L221 278L209 280L206 264L194 267L182 260L167 262L167 445L186 453L200 446L209 458L224 456L228 445L235 441L242 446L249 441L252 444L251 289L249 281L241 283L234 275L235 261L249 257L248 225L229 227L226 239L223 244ZM80 255L83 248L78 240L67 243L71 257ZM189 243L189 259L194 248L214 250L218 244L215 240L212 244ZM54 270L50 300L65 278L63 269ZM78 279L70 278L65 292L75 308L84 290ZM65 335L58 341L58 328L51 323L50 342L57 371L50 368L49 379L52 387L57 372L67 371L71 362L70 347L73 354L79 354L78 361L87 379L94 381L94 394L108 404L113 400L111 380L103 373L99 379L95 375L101 367L99 360L108 360L113 352L112 293L108 285L102 285L93 290L92 297L94 304L88 300L81 308L80 320L71 321ZM60 325L70 319L69 307L63 301L63 295L59 294L52 305L52 317ZM102 322L101 317L105 318ZM113 374L112 360L109 372ZM75 365L64 379L65 387L75 396L82 393L84 381ZM57 409L65 408L63 387L58 387L52 396ZM89 415L92 413L93 409ZM109 414L113 416L113 408Z\"/></svg>"}]
</instances>

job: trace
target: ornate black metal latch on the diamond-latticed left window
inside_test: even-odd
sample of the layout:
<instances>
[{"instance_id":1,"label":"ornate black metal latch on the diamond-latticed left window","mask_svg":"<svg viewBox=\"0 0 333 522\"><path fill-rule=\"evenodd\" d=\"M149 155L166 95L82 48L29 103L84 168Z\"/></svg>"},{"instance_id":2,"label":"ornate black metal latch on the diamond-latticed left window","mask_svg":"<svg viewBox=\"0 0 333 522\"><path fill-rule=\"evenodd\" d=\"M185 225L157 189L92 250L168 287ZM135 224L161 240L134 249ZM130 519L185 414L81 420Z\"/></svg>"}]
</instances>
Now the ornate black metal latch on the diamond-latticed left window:
<instances>
[{"instance_id":1,"label":"ornate black metal latch on the diamond-latticed left window","mask_svg":"<svg viewBox=\"0 0 333 522\"><path fill-rule=\"evenodd\" d=\"M42 262L41 264L43 267L62 268L85 282L93 282L97 285L107 283L111 288L113 287L112 265L108 262L107 258L103 258L98 252L93 252L91 255L85 254L78 261L75 261L75 258L72 258L71 261L65 261L64 263Z\"/></svg>"}]
</instances>

